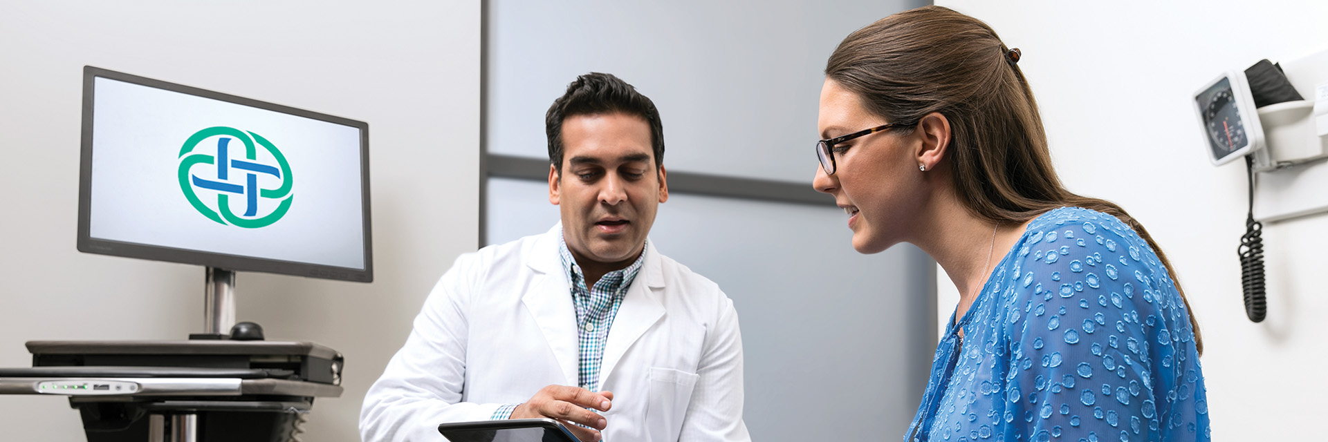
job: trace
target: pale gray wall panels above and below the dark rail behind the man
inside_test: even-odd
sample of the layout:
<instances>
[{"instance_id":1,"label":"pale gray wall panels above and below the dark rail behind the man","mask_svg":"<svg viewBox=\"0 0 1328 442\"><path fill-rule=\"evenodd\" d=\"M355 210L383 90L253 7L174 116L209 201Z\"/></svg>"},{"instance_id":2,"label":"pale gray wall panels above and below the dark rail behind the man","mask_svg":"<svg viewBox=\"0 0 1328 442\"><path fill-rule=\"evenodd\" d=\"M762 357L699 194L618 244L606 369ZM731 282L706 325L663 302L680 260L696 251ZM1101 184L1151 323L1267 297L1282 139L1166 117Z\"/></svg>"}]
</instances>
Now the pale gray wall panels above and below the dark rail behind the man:
<instances>
[{"instance_id":1,"label":"pale gray wall panels above and below the dark rail behind the man","mask_svg":"<svg viewBox=\"0 0 1328 442\"><path fill-rule=\"evenodd\" d=\"M486 4L483 139L499 166L547 158L544 111L578 74L614 73L659 106L664 165L680 186L671 186L651 238L734 300L754 441L895 439L922 396L935 348L935 264L910 246L858 255L842 211L761 196L794 195L778 188L811 181L822 69L834 46L922 4ZM486 243L558 222L546 183L499 175L486 184ZM714 194L725 188L681 191L706 182L688 175L756 181L720 186L753 188L724 198Z\"/></svg>"}]
</instances>

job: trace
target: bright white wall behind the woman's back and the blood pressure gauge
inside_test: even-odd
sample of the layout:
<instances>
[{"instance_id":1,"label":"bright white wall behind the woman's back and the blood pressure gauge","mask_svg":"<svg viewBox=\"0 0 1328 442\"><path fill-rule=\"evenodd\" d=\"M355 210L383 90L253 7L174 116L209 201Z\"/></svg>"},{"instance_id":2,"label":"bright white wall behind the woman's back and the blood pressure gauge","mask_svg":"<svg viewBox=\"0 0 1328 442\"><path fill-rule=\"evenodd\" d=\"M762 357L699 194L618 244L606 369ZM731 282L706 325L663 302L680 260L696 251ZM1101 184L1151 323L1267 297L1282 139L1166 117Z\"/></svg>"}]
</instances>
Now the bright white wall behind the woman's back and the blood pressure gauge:
<instances>
[{"instance_id":1,"label":"bright white wall behind the woman's back and the blood pressure gauge","mask_svg":"<svg viewBox=\"0 0 1328 442\"><path fill-rule=\"evenodd\" d=\"M1239 162L1212 167L1194 93L1222 70L1328 49L1321 1L936 1L991 24L1024 53L1052 157L1076 192L1121 203L1177 268L1203 331L1218 441L1321 437L1328 384L1321 331L1328 296L1323 215L1264 226L1268 319L1244 317L1236 246L1244 232ZM942 320L957 295L944 272Z\"/></svg>"}]
</instances>

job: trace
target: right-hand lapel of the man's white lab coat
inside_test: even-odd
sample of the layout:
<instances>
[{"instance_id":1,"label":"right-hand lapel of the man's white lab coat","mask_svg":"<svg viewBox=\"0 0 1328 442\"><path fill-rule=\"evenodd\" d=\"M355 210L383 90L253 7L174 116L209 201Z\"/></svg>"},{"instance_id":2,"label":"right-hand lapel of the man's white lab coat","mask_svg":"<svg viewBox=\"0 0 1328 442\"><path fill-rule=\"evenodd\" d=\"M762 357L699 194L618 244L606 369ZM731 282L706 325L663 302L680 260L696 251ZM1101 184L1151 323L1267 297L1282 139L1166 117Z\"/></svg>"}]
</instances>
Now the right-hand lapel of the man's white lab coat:
<instances>
[{"instance_id":1,"label":"right-hand lapel of the man's white lab coat","mask_svg":"<svg viewBox=\"0 0 1328 442\"><path fill-rule=\"evenodd\" d=\"M663 288L664 275L659 254L655 252L653 247L647 247L641 271L632 281L632 287L627 289L627 295L623 296L623 304L614 317L614 327L608 331L604 358L600 361L600 373L603 374L599 377L599 385L604 385L610 380L618 362L627 354L627 349L664 317L664 304L659 300Z\"/></svg>"}]
</instances>

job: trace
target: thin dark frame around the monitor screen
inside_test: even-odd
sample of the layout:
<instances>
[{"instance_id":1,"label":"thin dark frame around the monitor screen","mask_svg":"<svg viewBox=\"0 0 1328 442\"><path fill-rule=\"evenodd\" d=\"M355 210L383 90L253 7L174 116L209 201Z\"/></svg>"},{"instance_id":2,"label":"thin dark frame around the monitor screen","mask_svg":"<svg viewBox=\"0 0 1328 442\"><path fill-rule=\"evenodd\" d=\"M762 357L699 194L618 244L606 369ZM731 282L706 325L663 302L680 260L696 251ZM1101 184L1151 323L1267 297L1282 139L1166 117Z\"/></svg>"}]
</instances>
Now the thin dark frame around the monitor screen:
<instances>
[{"instance_id":1,"label":"thin dark frame around the monitor screen","mask_svg":"<svg viewBox=\"0 0 1328 442\"><path fill-rule=\"evenodd\" d=\"M254 256L240 256L197 250L173 248L139 243L114 242L92 238L89 227L92 223L92 141L93 141L93 105L96 97L96 78L124 81L147 88L170 90L189 96L210 98L242 106L258 108L263 110L279 111L309 119L325 121L360 130L360 198L364 215L364 269L336 267L313 263L299 263L275 260ZM153 80L127 74L122 72L84 66L82 78L82 138L78 167L78 251L85 254L98 254L122 258L137 258L157 261L170 261L182 264L195 264L205 267L224 268L230 271L264 272L279 275L295 275L319 279L372 283L373 281L373 238L371 224L369 203L369 123L336 115L328 115L304 109L283 106L266 101L231 96L214 90L186 86L161 80Z\"/></svg>"}]
</instances>

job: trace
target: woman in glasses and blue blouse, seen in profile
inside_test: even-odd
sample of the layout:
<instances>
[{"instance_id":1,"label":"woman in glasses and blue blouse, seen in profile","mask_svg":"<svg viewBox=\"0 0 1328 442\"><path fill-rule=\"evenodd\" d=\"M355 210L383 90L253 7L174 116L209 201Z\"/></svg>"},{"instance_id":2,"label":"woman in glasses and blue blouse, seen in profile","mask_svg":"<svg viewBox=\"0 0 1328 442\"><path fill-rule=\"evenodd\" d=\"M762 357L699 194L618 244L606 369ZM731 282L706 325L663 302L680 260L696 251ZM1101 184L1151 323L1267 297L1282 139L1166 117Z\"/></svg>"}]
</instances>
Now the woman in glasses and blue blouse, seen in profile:
<instances>
[{"instance_id":1,"label":"woman in glasses and blue blouse, seen in profile","mask_svg":"<svg viewBox=\"0 0 1328 442\"><path fill-rule=\"evenodd\" d=\"M826 65L813 184L849 212L855 250L914 243L960 293L906 441L1207 441L1199 328L1171 265L1120 206L1061 184L1019 57L926 7Z\"/></svg>"}]
</instances>

